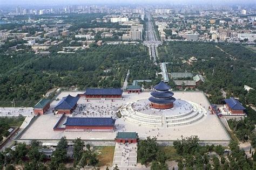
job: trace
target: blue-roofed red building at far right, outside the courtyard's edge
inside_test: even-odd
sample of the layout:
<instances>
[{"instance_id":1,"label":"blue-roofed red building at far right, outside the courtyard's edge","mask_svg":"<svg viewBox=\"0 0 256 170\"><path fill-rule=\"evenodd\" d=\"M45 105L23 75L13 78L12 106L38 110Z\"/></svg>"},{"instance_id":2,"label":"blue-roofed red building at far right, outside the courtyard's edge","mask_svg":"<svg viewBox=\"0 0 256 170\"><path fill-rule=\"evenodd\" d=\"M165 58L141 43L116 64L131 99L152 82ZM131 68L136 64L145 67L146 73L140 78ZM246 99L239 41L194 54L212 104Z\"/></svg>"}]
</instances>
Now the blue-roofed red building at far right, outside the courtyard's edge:
<instances>
[{"instance_id":1,"label":"blue-roofed red building at far right, outside the courtyard's edge","mask_svg":"<svg viewBox=\"0 0 256 170\"><path fill-rule=\"evenodd\" d=\"M232 114L245 114L244 110L246 109L234 97L227 98L224 101L226 102L226 107Z\"/></svg>"}]
</instances>

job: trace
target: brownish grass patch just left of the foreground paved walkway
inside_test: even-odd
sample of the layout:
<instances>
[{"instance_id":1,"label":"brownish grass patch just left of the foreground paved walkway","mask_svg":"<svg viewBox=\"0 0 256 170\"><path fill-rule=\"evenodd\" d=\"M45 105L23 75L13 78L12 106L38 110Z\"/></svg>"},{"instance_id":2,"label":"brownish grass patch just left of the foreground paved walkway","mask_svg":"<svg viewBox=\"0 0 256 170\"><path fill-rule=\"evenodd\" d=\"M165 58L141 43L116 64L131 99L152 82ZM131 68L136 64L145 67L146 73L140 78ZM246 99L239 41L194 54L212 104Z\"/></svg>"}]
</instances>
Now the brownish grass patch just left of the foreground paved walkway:
<instances>
[{"instance_id":1,"label":"brownish grass patch just left of the foreground paved walkway","mask_svg":"<svg viewBox=\"0 0 256 170\"><path fill-rule=\"evenodd\" d=\"M113 164L114 146L103 146L96 148L99 159L99 166L111 166Z\"/></svg>"}]
</instances>

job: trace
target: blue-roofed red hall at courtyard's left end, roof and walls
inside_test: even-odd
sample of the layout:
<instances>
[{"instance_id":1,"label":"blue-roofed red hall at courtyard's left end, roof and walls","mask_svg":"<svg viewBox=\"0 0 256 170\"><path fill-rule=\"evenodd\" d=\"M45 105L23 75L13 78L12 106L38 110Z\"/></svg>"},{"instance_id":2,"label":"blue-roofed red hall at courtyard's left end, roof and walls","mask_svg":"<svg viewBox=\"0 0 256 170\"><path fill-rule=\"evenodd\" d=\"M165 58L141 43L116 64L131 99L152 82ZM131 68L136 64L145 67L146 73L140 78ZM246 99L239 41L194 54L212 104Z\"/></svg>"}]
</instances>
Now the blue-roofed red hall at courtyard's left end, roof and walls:
<instances>
[{"instance_id":1,"label":"blue-roofed red hall at courtyard's left end, roof and walls","mask_svg":"<svg viewBox=\"0 0 256 170\"><path fill-rule=\"evenodd\" d=\"M77 107L77 101L79 97L73 97L68 95L63 97L62 100L56 105L55 110L58 111L58 114L72 114L73 110Z\"/></svg>"}]
</instances>

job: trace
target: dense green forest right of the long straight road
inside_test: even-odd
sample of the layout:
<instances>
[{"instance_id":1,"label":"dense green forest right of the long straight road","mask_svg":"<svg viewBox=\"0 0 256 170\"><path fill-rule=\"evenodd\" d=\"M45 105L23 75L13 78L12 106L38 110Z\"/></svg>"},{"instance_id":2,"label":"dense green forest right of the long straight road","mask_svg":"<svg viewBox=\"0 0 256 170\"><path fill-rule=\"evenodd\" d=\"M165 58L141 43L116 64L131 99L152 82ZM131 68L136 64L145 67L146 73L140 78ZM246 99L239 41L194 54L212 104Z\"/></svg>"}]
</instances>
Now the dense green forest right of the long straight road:
<instances>
[{"instance_id":1,"label":"dense green forest right of the long straight road","mask_svg":"<svg viewBox=\"0 0 256 170\"><path fill-rule=\"evenodd\" d=\"M192 65L186 61L198 59ZM256 92L244 90L244 85L256 88L255 53L240 44L206 42L169 42L159 47L159 61L171 62L169 72L202 74L206 82L199 87L209 95L212 103L221 103L223 89L227 97L239 97L246 104L256 104Z\"/></svg>"}]
</instances>

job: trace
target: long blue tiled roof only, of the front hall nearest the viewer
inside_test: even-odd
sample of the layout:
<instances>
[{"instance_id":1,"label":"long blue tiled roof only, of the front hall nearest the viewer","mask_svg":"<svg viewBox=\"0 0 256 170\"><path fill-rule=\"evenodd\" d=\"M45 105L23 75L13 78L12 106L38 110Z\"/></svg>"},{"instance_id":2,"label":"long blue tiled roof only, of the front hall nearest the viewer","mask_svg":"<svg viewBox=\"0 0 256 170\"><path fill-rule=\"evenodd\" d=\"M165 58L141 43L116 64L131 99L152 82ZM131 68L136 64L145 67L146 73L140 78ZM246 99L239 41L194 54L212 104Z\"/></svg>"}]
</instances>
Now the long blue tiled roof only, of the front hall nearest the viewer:
<instances>
[{"instance_id":1,"label":"long blue tiled roof only, of the front hall nearest the viewer","mask_svg":"<svg viewBox=\"0 0 256 170\"><path fill-rule=\"evenodd\" d=\"M68 117L66 126L114 126L116 119L112 117Z\"/></svg>"}]
</instances>

